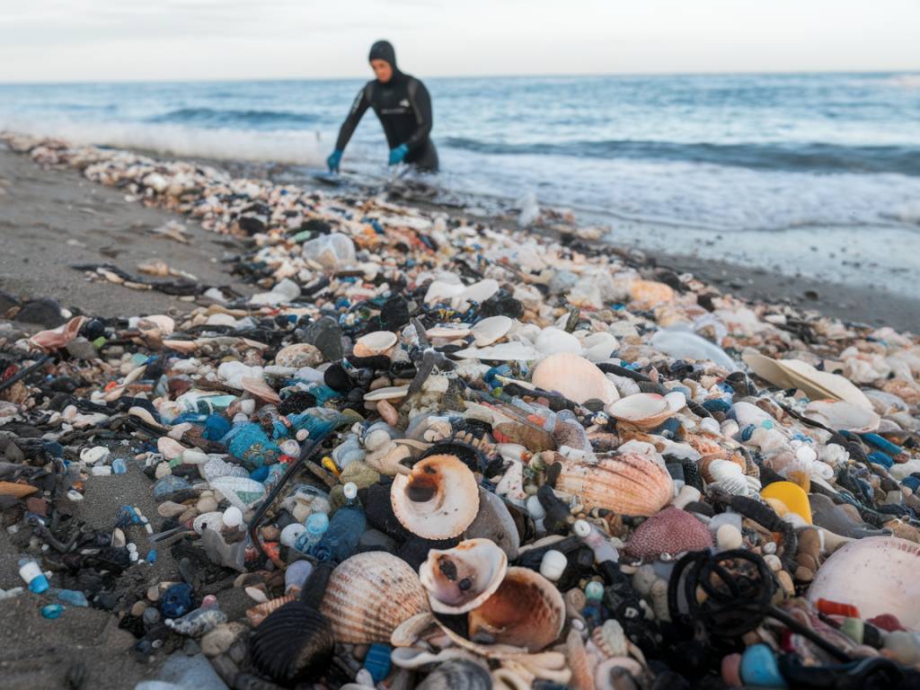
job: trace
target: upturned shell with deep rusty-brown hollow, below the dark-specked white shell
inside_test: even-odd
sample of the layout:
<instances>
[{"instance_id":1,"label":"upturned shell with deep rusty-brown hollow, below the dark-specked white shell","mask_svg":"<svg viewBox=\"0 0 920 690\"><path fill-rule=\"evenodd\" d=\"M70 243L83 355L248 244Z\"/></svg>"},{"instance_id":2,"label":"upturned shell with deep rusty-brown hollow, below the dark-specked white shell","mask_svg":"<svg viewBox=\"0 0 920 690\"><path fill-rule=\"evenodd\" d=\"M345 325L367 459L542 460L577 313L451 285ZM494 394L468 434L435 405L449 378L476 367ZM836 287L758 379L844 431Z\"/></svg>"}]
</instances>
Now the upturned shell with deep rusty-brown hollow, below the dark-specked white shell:
<instances>
[{"instance_id":1,"label":"upturned shell with deep rusty-brown hollow, below the dark-specked white shell","mask_svg":"<svg viewBox=\"0 0 920 690\"><path fill-rule=\"evenodd\" d=\"M469 638L539 651L557 640L565 619L556 585L534 570L509 568L495 593L469 612Z\"/></svg>"}]
</instances>

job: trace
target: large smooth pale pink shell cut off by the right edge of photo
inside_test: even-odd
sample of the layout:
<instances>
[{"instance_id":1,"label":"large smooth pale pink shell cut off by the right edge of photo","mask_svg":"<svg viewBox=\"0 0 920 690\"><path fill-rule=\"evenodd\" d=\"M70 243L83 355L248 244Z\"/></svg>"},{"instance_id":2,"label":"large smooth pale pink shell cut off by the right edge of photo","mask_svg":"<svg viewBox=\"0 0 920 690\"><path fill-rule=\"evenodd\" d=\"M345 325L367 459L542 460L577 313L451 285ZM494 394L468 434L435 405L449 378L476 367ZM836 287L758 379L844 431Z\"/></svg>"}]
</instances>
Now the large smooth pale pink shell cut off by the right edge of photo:
<instances>
[{"instance_id":1,"label":"large smooth pale pink shell cut off by the right edge of photo","mask_svg":"<svg viewBox=\"0 0 920 690\"><path fill-rule=\"evenodd\" d=\"M860 618L894 614L920 628L920 544L896 536L868 536L834 551L822 563L808 599L852 604Z\"/></svg>"}]
</instances>

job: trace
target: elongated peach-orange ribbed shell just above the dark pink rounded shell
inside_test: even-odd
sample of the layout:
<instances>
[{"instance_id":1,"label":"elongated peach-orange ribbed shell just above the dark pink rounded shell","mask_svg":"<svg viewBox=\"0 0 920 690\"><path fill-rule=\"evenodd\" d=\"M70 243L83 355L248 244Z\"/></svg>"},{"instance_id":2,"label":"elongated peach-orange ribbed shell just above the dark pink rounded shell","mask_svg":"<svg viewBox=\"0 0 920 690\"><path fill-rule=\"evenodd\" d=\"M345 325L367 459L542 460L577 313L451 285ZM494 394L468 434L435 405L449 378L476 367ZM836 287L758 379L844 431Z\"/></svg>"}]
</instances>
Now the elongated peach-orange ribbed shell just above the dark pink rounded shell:
<instances>
[{"instance_id":1,"label":"elongated peach-orange ribbed shell just above the dark pink rounded shell","mask_svg":"<svg viewBox=\"0 0 920 690\"><path fill-rule=\"evenodd\" d=\"M561 462L556 489L578 497L589 511L654 515L674 497L671 475L649 455L623 453Z\"/></svg>"}]
</instances>

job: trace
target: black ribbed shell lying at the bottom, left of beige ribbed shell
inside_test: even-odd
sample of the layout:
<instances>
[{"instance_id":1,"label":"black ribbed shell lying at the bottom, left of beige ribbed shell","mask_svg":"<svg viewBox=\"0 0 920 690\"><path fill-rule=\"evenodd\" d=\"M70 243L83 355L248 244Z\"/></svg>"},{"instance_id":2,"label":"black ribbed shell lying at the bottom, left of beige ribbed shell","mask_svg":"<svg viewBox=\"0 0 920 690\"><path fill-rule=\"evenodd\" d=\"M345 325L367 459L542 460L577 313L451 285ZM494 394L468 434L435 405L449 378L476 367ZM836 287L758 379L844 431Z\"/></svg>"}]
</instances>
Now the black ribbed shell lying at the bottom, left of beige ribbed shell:
<instances>
[{"instance_id":1,"label":"black ribbed shell lying at the bottom, left of beige ribbed shell","mask_svg":"<svg viewBox=\"0 0 920 690\"><path fill-rule=\"evenodd\" d=\"M252 660L277 683L319 677L332 661L335 636L328 619L301 601L271 613L250 639Z\"/></svg>"}]
</instances>

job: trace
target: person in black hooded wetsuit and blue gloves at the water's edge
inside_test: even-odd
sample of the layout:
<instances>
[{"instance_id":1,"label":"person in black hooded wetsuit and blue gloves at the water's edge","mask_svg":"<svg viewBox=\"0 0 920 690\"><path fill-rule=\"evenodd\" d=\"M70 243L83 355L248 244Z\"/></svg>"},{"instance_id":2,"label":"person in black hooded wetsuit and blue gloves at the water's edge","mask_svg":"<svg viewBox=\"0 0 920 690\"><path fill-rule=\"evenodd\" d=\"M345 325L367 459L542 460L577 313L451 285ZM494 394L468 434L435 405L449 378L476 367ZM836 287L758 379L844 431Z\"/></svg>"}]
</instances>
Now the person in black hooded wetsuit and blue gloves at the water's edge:
<instances>
[{"instance_id":1,"label":"person in black hooded wetsuit and blue gloves at the water's edge","mask_svg":"<svg viewBox=\"0 0 920 690\"><path fill-rule=\"evenodd\" d=\"M391 166L410 163L421 170L436 171L438 151L429 136L431 97L428 89L419 79L399 71L397 53L389 41L374 43L368 59L377 78L364 85L342 122L336 149L326 159L329 171L339 170L342 152L368 108L374 109L384 127Z\"/></svg>"}]
</instances>

